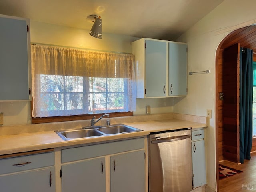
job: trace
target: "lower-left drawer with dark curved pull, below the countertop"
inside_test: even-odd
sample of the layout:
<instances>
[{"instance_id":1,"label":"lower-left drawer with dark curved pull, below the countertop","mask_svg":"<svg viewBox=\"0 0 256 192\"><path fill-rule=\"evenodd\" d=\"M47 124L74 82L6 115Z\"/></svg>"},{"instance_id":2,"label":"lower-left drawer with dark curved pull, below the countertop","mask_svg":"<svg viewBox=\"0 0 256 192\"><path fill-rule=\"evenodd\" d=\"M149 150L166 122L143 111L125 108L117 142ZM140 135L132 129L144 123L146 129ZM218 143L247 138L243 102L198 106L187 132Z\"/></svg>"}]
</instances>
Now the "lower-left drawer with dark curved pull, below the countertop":
<instances>
[{"instance_id":1,"label":"lower-left drawer with dark curved pull, below the countertop","mask_svg":"<svg viewBox=\"0 0 256 192\"><path fill-rule=\"evenodd\" d=\"M53 166L54 152L0 159L0 174Z\"/></svg>"}]
</instances>

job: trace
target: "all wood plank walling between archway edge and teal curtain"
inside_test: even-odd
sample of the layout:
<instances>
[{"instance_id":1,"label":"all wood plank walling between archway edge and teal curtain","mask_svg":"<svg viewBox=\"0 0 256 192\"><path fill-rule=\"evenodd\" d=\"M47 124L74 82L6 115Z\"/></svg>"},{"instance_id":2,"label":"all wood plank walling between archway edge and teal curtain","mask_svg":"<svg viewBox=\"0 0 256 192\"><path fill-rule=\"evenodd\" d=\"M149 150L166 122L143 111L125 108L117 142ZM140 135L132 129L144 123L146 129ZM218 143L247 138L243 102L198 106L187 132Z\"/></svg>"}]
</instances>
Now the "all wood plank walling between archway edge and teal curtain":
<instances>
[{"instance_id":1,"label":"all wood plank walling between archway edge and teal curtain","mask_svg":"<svg viewBox=\"0 0 256 192\"><path fill-rule=\"evenodd\" d=\"M218 160L239 161L239 44L218 55ZM238 65L239 66L239 65ZM225 74L225 75L224 75Z\"/></svg>"}]
</instances>

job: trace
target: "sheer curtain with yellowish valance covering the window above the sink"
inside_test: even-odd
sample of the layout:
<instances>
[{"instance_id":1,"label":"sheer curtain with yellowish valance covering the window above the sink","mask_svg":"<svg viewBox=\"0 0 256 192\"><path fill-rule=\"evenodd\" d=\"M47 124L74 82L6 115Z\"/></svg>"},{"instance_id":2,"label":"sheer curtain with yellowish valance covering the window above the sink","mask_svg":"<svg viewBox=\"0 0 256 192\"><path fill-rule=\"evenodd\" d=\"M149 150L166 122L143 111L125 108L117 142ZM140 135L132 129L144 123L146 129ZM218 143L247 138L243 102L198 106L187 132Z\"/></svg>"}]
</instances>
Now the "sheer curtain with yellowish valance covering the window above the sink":
<instances>
[{"instance_id":1,"label":"sheer curtain with yellowish valance covering the window above the sink","mask_svg":"<svg viewBox=\"0 0 256 192\"><path fill-rule=\"evenodd\" d=\"M136 109L134 56L32 45L32 117Z\"/></svg>"}]
</instances>

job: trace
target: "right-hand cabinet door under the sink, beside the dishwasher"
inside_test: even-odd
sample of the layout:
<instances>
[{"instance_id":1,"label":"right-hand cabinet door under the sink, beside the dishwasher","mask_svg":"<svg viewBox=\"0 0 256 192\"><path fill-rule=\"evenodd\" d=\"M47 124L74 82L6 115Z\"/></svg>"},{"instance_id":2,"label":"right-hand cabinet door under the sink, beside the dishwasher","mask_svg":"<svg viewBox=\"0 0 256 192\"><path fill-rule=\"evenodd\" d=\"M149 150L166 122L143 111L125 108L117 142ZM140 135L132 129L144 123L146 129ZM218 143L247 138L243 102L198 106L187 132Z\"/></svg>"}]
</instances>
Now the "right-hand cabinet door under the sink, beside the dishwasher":
<instances>
[{"instance_id":1,"label":"right-hand cabinet door under the sink, beside the dishwasher","mask_svg":"<svg viewBox=\"0 0 256 192\"><path fill-rule=\"evenodd\" d=\"M110 191L145 191L144 150L110 157Z\"/></svg>"}]
</instances>

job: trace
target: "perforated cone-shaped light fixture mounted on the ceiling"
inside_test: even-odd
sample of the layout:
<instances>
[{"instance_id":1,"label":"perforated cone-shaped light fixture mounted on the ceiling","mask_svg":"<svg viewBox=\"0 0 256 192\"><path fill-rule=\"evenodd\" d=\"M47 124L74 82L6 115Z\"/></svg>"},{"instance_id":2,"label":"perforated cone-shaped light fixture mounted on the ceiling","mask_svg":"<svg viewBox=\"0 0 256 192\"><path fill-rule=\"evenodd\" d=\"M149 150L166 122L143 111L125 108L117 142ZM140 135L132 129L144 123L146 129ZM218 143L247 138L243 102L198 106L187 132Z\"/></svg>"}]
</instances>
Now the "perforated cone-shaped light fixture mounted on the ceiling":
<instances>
[{"instance_id":1,"label":"perforated cone-shaped light fixture mounted on the ceiling","mask_svg":"<svg viewBox=\"0 0 256 192\"><path fill-rule=\"evenodd\" d=\"M98 39L102 39L102 20L97 15L89 15L86 18L89 22L93 22L92 29L89 34Z\"/></svg>"}]
</instances>

